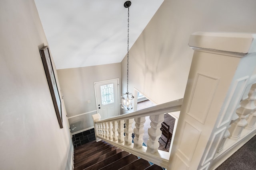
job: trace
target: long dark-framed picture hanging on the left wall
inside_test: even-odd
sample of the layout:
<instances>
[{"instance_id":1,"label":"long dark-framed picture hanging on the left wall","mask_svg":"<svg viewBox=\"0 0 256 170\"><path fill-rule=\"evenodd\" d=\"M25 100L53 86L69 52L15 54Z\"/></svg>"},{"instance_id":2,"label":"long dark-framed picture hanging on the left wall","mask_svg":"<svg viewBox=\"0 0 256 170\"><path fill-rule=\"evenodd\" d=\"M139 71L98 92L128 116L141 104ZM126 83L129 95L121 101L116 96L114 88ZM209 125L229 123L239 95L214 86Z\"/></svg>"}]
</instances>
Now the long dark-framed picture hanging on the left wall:
<instances>
[{"instance_id":1,"label":"long dark-framed picture hanging on the left wall","mask_svg":"<svg viewBox=\"0 0 256 170\"><path fill-rule=\"evenodd\" d=\"M44 46L42 49L40 49L40 54L42 57L42 62L44 65L44 70L45 70L46 78L48 81L50 93L52 95L52 101L53 101L54 109L58 118L58 123L60 125L60 128L63 128L60 94L58 92L58 87L57 87L56 78L54 75L54 70L52 67L52 61L51 61L48 46Z\"/></svg>"}]
</instances>

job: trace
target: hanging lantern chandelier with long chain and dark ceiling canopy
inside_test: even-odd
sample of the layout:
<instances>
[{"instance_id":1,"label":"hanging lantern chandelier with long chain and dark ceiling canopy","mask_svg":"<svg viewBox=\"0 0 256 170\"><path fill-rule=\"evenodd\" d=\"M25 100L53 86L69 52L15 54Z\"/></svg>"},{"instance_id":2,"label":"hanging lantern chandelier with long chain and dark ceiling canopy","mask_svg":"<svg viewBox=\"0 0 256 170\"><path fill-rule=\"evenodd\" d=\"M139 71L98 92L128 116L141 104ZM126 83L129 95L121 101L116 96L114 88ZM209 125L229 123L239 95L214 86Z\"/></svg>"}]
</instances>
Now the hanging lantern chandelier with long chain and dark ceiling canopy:
<instances>
[{"instance_id":1,"label":"hanging lantern chandelier with long chain and dark ceiling canopy","mask_svg":"<svg viewBox=\"0 0 256 170\"><path fill-rule=\"evenodd\" d=\"M128 8L128 39L127 39L127 92L122 94L122 106L121 108L125 111L132 110L132 99L134 96L128 92L128 72L129 72L129 7L131 6L132 2L126 1L124 2L124 7Z\"/></svg>"}]
</instances>

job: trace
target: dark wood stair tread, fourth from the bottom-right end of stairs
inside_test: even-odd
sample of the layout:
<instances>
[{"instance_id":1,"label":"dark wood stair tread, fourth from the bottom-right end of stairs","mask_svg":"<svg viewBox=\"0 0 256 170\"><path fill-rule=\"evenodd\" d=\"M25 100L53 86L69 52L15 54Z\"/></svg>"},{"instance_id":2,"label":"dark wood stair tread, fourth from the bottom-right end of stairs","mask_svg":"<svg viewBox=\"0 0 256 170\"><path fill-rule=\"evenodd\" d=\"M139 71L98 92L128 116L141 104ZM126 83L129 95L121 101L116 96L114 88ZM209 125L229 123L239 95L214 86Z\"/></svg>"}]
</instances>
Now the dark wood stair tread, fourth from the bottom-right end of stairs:
<instances>
[{"instance_id":1,"label":"dark wood stair tread, fourth from the bottom-right end of stairs","mask_svg":"<svg viewBox=\"0 0 256 170\"><path fill-rule=\"evenodd\" d=\"M121 158L123 158L124 156L129 155L130 153L126 152L126 151L122 151L119 152L113 156L110 156L109 158L102 160L101 162L98 162L92 166L89 166L88 168L86 168L85 170L99 170L100 168L103 168L104 166L107 166L108 164L110 164L111 162L115 162L116 160L119 160Z\"/></svg>"}]
</instances>

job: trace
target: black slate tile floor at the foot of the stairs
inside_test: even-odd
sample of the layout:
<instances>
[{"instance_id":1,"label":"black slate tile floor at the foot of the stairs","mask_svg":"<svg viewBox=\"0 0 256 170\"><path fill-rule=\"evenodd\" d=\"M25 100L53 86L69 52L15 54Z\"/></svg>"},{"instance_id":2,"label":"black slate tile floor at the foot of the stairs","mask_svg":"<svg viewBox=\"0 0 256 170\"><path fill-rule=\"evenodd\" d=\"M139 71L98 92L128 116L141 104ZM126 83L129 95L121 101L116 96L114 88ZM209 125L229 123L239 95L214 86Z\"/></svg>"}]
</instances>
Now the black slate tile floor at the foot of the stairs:
<instances>
[{"instance_id":1,"label":"black slate tile floor at the foot of the stairs","mask_svg":"<svg viewBox=\"0 0 256 170\"><path fill-rule=\"evenodd\" d=\"M94 128L72 135L74 148L95 140Z\"/></svg>"}]
</instances>

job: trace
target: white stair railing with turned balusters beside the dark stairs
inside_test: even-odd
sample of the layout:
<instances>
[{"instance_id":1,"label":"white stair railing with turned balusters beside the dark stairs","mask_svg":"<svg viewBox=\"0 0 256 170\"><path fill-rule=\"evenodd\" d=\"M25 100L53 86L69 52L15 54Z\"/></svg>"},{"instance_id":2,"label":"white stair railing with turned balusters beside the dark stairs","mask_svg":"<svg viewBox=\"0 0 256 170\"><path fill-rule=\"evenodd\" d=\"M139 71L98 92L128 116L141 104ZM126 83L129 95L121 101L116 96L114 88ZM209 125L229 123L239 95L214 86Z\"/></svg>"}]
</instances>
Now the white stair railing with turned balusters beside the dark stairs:
<instances>
[{"instance_id":1,"label":"white stair railing with turned balusters beside the dark stairs","mask_svg":"<svg viewBox=\"0 0 256 170\"><path fill-rule=\"evenodd\" d=\"M164 113L180 111L182 101L183 99L174 100L103 120L100 120L100 114L92 115L96 141L104 140L122 150L167 168L170 152L158 150L158 141L162 134L160 127L164 121ZM151 122L148 129L147 146L143 146L143 128L146 116L150 117ZM132 138L133 133L134 138Z\"/></svg>"}]
</instances>

